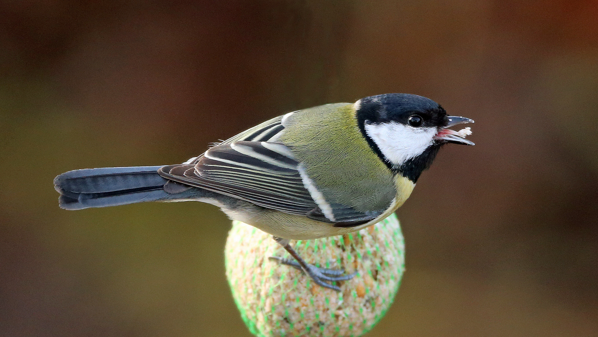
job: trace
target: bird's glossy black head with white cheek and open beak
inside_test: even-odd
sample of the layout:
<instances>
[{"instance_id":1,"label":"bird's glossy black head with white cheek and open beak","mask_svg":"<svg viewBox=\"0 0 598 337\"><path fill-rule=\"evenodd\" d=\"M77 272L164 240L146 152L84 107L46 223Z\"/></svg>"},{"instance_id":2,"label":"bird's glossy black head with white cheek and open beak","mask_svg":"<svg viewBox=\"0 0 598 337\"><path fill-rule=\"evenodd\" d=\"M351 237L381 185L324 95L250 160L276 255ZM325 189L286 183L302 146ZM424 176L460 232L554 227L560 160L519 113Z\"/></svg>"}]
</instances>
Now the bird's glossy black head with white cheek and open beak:
<instances>
[{"instance_id":1,"label":"bird's glossy black head with white cheek and open beak","mask_svg":"<svg viewBox=\"0 0 598 337\"><path fill-rule=\"evenodd\" d=\"M426 97L413 94L365 97L355 103L355 114L373 151L390 170L413 182L432 164L444 143L473 145L463 138L466 134L447 128L473 121L448 116L442 106Z\"/></svg>"}]
</instances>

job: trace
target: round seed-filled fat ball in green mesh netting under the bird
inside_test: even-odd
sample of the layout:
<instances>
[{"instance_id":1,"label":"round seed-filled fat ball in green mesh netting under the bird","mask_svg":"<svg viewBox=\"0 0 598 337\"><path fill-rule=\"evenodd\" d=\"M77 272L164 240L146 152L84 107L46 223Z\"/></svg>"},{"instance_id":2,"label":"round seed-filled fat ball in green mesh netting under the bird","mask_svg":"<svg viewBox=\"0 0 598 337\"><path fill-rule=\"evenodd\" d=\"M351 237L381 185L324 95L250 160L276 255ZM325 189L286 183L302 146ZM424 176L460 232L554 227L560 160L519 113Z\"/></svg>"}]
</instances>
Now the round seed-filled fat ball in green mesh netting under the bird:
<instances>
[{"instance_id":1,"label":"round seed-filled fat ball in green mesh netting under the bird","mask_svg":"<svg viewBox=\"0 0 598 337\"><path fill-rule=\"evenodd\" d=\"M225 264L241 317L258 337L361 336L384 316L404 270L404 241L393 214L359 232L318 240L291 241L310 264L357 271L325 289L295 268L269 256L290 256L271 235L234 221Z\"/></svg>"}]
</instances>

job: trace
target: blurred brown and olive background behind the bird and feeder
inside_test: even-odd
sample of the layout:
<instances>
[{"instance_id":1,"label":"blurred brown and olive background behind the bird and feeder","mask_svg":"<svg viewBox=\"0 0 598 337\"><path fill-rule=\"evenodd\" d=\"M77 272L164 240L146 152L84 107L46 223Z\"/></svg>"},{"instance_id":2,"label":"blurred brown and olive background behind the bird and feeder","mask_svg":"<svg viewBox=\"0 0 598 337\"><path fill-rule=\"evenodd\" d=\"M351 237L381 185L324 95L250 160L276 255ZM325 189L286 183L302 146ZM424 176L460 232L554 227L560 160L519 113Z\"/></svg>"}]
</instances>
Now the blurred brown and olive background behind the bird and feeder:
<instances>
[{"instance_id":1,"label":"blurred brown and olive background behind the bird and feeder","mask_svg":"<svg viewBox=\"0 0 598 337\"><path fill-rule=\"evenodd\" d=\"M596 1L2 1L0 72L2 336L249 336L218 209L68 212L52 179L392 92L477 145L399 209L407 272L368 336L598 336Z\"/></svg>"}]
</instances>

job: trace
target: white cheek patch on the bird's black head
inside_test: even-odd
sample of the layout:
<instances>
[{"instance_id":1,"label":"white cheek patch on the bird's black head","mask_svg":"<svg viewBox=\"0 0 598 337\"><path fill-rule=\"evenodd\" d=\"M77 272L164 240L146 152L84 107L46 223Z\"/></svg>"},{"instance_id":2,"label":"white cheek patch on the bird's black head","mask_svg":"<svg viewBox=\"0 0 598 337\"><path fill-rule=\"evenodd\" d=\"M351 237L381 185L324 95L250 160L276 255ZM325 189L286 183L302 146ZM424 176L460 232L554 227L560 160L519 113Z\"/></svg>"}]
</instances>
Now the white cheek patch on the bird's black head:
<instances>
[{"instance_id":1,"label":"white cheek patch on the bird's black head","mask_svg":"<svg viewBox=\"0 0 598 337\"><path fill-rule=\"evenodd\" d=\"M386 122L366 124L365 132L390 163L400 166L432 145L438 130L435 127L416 128L398 122Z\"/></svg>"}]
</instances>

